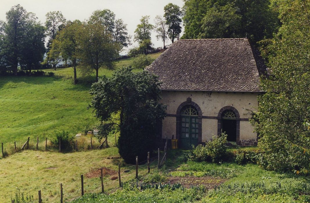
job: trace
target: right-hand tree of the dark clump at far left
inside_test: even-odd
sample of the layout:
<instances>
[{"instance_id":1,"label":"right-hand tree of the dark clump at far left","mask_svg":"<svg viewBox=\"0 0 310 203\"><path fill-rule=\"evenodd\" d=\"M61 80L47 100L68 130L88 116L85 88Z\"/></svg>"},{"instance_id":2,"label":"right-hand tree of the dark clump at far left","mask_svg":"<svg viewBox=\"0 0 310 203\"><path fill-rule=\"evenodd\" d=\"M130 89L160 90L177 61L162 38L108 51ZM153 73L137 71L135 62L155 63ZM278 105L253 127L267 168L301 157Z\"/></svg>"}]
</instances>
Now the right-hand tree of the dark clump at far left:
<instances>
[{"instance_id":1,"label":"right-hand tree of the dark clump at far left","mask_svg":"<svg viewBox=\"0 0 310 203\"><path fill-rule=\"evenodd\" d=\"M40 68L45 54L45 27L36 21L33 13L29 13L25 24L20 66L25 67L31 75L33 68Z\"/></svg>"}]
</instances>

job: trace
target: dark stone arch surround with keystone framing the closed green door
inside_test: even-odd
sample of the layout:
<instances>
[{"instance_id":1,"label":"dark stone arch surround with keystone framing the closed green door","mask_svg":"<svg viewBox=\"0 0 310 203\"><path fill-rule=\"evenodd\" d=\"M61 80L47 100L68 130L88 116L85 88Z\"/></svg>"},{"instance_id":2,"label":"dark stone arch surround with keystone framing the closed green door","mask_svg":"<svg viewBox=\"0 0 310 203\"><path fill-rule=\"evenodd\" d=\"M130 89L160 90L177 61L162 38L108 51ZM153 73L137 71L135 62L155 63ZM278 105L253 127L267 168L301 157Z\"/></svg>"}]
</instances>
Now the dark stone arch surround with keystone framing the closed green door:
<instances>
[{"instance_id":1,"label":"dark stone arch surround with keystone framing the closed green door","mask_svg":"<svg viewBox=\"0 0 310 203\"><path fill-rule=\"evenodd\" d=\"M192 101L191 98L187 98L185 102L182 102L176 110L176 134L175 139L180 142L180 130L181 130L181 109L186 105L192 105L198 111L198 144L202 143L202 112L198 104Z\"/></svg>"}]
</instances>

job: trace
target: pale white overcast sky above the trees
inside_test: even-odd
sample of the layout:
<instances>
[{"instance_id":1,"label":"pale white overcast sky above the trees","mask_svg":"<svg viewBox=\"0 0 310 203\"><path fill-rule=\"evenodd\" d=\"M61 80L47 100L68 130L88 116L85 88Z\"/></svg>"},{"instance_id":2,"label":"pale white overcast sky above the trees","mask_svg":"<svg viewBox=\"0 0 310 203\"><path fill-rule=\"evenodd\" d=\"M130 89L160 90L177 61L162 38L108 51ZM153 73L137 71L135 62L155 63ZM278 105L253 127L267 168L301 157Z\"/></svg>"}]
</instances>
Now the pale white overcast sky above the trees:
<instances>
[{"instance_id":1,"label":"pale white overcast sky above the trees","mask_svg":"<svg viewBox=\"0 0 310 203\"><path fill-rule=\"evenodd\" d=\"M6 12L16 4L20 4L27 12L33 12L44 24L45 14L49 11L61 11L67 20L86 20L97 9L110 9L127 24L128 33L134 35L135 28L143 15L150 15L150 23L154 24L156 15L164 14L164 6L173 3L183 6L182 0L0 0L0 20L6 20ZM154 47L163 46L152 33ZM167 42L166 44L170 44ZM137 45L133 43L132 46ZM131 46L131 47L132 47Z\"/></svg>"}]
</instances>

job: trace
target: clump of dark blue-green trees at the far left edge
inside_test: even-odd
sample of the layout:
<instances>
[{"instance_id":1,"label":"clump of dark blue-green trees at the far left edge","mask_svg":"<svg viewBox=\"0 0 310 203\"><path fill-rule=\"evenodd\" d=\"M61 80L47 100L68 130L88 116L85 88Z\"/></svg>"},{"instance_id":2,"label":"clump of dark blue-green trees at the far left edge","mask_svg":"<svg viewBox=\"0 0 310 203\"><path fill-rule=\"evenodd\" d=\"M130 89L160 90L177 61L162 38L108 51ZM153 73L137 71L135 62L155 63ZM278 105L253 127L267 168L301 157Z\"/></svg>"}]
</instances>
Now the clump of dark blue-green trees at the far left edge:
<instances>
[{"instance_id":1,"label":"clump of dark blue-green trees at the far left edge","mask_svg":"<svg viewBox=\"0 0 310 203\"><path fill-rule=\"evenodd\" d=\"M0 72L17 75L20 66L30 74L43 60L45 28L19 4L6 13L6 19L0 21Z\"/></svg>"}]
</instances>

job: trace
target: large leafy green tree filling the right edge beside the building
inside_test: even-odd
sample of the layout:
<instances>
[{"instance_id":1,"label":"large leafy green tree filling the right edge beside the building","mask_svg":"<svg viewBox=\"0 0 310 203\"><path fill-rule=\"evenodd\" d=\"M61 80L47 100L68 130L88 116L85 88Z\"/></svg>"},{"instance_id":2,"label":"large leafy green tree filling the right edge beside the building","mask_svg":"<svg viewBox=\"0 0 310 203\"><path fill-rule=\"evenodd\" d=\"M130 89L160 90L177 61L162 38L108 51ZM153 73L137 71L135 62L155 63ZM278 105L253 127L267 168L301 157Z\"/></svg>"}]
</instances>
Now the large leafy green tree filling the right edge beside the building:
<instances>
[{"instance_id":1,"label":"large leafy green tree filling the right edge beside the building","mask_svg":"<svg viewBox=\"0 0 310 203\"><path fill-rule=\"evenodd\" d=\"M262 80L252 122L261 137L262 165L269 170L310 170L310 2L277 1L282 26L262 44L270 76Z\"/></svg>"}]
</instances>

